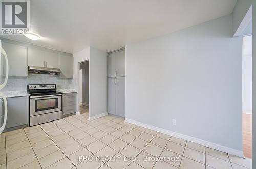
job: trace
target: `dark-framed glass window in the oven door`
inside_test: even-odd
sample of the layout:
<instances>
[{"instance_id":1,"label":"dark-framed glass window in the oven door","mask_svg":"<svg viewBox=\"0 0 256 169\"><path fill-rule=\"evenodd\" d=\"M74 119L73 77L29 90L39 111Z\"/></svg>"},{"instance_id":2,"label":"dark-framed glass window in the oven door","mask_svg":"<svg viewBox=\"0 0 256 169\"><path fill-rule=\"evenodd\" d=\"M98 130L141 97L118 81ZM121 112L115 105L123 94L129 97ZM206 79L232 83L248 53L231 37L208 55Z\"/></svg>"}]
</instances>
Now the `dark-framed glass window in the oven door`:
<instances>
[{"instance_id":1,"label":"dark-framed glass window in the oven door","mask_svg":"<svg viewBox=\"0 0 256 169\"><path fill-rule=\"evenodd\" d=\"M58 98L35 100L35 111L43 111L58 108Z\"/></svg>"}]
</instances>

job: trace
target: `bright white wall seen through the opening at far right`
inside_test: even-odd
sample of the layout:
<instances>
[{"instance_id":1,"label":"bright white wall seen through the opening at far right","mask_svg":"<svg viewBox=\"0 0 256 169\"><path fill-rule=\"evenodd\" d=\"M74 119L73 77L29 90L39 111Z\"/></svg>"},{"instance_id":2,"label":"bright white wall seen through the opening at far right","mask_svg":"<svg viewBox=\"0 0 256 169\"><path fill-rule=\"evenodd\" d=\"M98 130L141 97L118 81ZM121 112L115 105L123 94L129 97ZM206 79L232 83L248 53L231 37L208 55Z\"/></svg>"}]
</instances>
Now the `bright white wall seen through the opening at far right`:
<instances>
[{"instance_id":1,"label":"bright white wall seen through the opening at far right","mask_svg":"<svg viewBox=\"0 0 256 169\"><path fill-rule=\"evenodd\" d=\"M243 37L243 113L252 111L252 36Z\"/></svg>"}]
</instances>

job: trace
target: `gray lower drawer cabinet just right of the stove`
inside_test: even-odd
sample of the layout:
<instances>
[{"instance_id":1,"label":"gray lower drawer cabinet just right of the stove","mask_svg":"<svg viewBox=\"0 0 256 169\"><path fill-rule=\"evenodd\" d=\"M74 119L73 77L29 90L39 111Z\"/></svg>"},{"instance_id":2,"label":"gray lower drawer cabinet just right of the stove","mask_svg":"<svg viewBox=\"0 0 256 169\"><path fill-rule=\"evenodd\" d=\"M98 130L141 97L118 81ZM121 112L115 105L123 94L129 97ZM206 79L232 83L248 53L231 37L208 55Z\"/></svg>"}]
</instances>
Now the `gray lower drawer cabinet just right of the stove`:
<instances>
[{"instance_id":1,"label":"gray lower drawer cabinet just right of the stove","mask_svg":"<svg viewBox=\"0 0 256 169\"><path fill-rule=\"evenodd\" d=\"M70 116L76 113L76 93L62 94L62 116Z\"/></svg>"}]
</instances>

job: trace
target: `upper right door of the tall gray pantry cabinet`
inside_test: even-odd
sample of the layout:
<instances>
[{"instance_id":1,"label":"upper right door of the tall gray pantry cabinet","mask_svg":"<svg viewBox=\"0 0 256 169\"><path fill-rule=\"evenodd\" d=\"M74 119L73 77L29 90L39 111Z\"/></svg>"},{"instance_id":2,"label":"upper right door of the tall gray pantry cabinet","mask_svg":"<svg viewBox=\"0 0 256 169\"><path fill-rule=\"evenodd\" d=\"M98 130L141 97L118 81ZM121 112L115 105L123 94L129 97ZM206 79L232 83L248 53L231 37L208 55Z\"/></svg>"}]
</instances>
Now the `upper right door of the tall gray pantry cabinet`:
<instances>
[{"instance_id":1,"label":"upper right door of the tall gray pantry cabinet","mask_svg":"<svg viewBox=\"0 0 256 169\"><path fill-rule=\"evenodd\" d=\"M125 50L116 52L116 76L125 76Z\"/></svg>"}]
</instances>

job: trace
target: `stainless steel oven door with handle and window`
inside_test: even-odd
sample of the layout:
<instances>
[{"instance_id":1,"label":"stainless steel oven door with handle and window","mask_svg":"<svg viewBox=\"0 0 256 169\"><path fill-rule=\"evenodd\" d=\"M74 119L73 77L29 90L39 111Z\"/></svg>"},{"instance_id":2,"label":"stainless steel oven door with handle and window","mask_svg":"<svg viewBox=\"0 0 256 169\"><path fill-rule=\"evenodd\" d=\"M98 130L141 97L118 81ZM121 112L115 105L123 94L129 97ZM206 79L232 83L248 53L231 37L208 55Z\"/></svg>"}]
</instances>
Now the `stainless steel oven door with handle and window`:
<instances>
[{"instance_id":1,"label":"stainless steel oven door with handle and window","mask_svg":"<svg viewBox=\"0 0 256 169\"><path fill-rule=\"evenodd\" d=\"M30 97L30 116L56 111L61 111L61 94Z\"/></svg>"}]
</instances>

